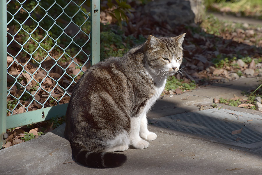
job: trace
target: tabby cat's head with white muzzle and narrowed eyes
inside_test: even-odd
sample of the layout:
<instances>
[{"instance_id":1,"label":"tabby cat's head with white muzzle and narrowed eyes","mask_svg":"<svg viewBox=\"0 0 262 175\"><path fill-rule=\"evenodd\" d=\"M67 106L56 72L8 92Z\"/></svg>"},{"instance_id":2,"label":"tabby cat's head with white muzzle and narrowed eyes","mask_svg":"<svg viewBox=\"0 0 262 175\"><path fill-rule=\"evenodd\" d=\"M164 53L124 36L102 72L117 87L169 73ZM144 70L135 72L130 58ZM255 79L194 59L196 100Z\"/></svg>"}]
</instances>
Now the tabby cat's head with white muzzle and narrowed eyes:
<instances>
[{"instance_id":1,"label":"tabby cat's head with white muzzle and narrowed eyes","mask_svg":"<svg viewBox=\"0 0 262 175\"><path fill-rule=\"evenodd\" d=\"M172 38L148 36L144 44L144 63L151 74L166 77L179 70L183 59L184 37L185 33Z\"/></svg>"}]
</instances>

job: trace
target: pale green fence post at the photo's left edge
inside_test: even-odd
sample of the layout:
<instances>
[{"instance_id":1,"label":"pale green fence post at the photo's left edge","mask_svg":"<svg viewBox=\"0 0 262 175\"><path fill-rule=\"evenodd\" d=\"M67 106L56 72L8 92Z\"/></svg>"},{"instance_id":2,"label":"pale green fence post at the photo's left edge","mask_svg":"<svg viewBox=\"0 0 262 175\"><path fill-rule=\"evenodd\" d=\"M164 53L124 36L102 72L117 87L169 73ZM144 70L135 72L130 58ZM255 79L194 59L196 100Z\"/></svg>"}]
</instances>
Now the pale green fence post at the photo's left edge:
<instances>
[{"instance_id":1,"label":"pale green fence post at the photo's left edge","mask_svg":"<svg viewBox=\"0 0 262 175\"><path fill-rule=\"evenodd\" d=\"M0 2L0 148L5 143L3 134L6 133L6 88L7 88L7 24L6 1Z\"/></svg>"}]
</instances>

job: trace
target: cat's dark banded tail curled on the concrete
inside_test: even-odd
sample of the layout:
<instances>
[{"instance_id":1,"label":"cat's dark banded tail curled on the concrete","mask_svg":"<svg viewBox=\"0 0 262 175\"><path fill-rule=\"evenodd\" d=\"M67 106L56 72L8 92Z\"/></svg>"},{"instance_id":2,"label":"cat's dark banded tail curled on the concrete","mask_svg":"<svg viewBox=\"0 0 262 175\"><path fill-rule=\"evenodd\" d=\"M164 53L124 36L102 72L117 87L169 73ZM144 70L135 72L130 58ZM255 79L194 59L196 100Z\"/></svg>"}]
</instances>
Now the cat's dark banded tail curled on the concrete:
<instances>
[{"instance_id":1,"label":"cat's dark banded tail curled on the concrete","mask_svg":"<svg viewBox=\"0 0 262 175\"><path fill-rule=\"evenodd\" d=\"M71 143L73 158L88 167L114 168L126 161L126 155L111 152L89 152L83 144Z\"/></svg>"}]
</instances>

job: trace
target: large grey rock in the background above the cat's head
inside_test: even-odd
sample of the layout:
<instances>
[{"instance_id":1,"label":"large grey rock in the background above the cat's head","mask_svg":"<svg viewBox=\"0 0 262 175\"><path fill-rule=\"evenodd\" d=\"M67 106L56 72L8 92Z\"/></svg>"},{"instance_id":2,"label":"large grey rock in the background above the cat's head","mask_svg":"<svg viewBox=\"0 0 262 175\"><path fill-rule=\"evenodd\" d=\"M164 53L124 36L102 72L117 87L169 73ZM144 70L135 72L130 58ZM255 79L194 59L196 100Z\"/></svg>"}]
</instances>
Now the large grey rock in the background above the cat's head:
<instances>
[{"instance_id":1,"label":"large grey rock in the background above the cat's head","mask_svg":"<svg viewBox=\"0 0 262 175\"><path fill-rule=\"evenodd\" d=\"M199 22L205 11L203 0L155 0L147 3L141 11L141 17L151 17L151 22L167 23L173 29L178 25Z\"/></svg>"}]
</instances>

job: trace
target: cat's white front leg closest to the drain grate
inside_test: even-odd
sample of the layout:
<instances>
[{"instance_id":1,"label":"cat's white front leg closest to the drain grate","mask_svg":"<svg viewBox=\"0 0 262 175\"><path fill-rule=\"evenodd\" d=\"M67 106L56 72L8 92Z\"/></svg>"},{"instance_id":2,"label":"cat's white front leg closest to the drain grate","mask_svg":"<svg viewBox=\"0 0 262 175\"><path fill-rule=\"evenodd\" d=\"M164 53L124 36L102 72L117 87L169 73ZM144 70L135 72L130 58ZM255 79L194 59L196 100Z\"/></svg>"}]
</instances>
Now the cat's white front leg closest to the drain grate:
<instances>
[{"instance_id":1,"label":"cat's white front leg closest to the drain grate","mask_svg":"<svg viewBox=\"0 0 262 175\"><path fill-rule=\"evenodd\" d=\"M155 133L148 131L146 114L142 115L141 117L139 135L146 141L152 141L157 138L157 135Z\"/></svg>"}]
</instances>

